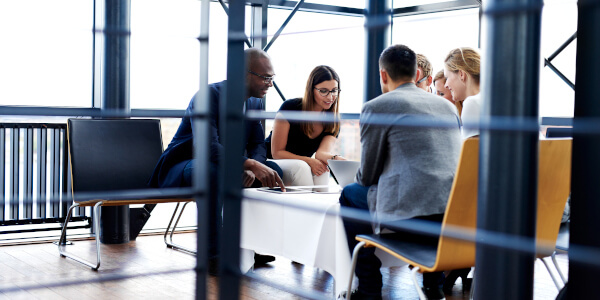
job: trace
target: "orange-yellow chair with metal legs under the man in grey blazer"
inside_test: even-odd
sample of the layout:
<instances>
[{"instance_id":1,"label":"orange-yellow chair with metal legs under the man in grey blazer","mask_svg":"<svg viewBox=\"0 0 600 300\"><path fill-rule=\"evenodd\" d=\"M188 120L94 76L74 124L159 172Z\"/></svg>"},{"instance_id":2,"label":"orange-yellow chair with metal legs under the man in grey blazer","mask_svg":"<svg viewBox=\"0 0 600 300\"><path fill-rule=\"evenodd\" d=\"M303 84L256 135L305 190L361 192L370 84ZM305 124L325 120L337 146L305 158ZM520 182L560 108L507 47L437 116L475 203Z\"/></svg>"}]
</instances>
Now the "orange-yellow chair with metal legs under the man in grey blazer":
<instances>
[{"instance_id":1,"label":"orange-yellow chair with metal legs under the man in grey blazer","mask_svg":"<svg viewBox=\"0 0 600 300\"><path fill-rule=\"evenodd\" d=\"M554 249L562 211L570 190L571 140L542 140L539 148L537 253L548 256ZM474 240L477 224L477 184L479 139L467 139L458 162L437 243L402 241L401 234L358 235L359 244L352 255L352 272L347 295L351 295L352 280L358 251L362 247L377 247L414 266L412 278L419 297L426 299L417 282L417 272L439 272L470 268L475 265L475 243L448 237L460 232ZM427 240L427 239L425 239Z\"/></svg>"}]
</instances>

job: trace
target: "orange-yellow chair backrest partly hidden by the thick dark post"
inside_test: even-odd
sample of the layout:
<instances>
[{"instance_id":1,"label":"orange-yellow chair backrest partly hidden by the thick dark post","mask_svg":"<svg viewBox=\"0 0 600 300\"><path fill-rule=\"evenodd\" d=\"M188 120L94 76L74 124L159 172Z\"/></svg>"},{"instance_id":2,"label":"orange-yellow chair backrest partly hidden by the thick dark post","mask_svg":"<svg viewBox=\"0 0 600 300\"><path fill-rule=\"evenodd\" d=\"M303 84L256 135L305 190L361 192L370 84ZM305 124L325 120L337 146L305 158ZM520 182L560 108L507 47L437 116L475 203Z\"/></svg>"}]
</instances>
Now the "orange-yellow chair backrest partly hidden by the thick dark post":
<instances>
[{"instance_id":1,"label":"orange-yellow chair backrest partly hidden by the thick dark post","mask_svg":"<svg viewBox=\"0 0 600 300\"><path fill-rule=\"evenodd\" d=\"M538 248L553 249L562 212L569 195L571 140L541 140L538 164L538 209L536 238ZM454 183L442 223L438 257L432 270L453 270L475 265L475 243L445 237L451 229L475 234L477 225L477 185L479 138L464 141ZM546 255L540 252L540 255ZM550 252L551 253L551 252Z\"/></svg>"}]
</instances>

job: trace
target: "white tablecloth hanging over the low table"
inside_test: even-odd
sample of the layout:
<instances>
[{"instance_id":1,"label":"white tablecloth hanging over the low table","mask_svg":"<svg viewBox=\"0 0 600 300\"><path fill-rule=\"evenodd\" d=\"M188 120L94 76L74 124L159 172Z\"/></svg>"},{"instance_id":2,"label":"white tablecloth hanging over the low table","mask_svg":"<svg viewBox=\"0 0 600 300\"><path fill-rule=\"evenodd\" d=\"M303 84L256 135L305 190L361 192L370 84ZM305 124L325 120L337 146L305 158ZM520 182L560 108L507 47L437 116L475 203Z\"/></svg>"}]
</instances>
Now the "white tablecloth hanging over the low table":
<instances>
[{"instance_id":1,"label":"white tablecloth hanging over the low table","mask_svg":"<svg viewBox=\"0 0 600 300\"><path fill-rule=\"evenodd\" d=\"M339 193L276 194L246 189L241 247L325 270L333 276L335 293L339 295L348 287L351 267L344 224L336 215L339 198ZM293 206L308 206L316 211ZM377 255L384 266L404 264L383 252Z\"/></svg>"}]
</instances>

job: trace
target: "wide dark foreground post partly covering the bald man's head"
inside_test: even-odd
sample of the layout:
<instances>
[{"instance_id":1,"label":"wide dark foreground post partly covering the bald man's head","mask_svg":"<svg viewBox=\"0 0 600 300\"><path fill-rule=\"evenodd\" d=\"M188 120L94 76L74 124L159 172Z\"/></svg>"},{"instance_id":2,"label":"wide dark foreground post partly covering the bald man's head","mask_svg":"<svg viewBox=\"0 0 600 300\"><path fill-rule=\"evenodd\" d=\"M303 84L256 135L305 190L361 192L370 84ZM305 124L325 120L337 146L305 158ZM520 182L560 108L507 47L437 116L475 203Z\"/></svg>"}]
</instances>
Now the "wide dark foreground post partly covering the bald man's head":
<instances>
[{"instance_id":1,"label":"wide dark foreground post partly covering the bald man's head","mask_svg":"<svg viewBox=\"0 0 600 300\"><path fill-rule=\"evenodd\" d=\"M229 174L242 174L239 158L243 155L244 114L246 99L246 62L244 34L246 4L233 0L229 4L227 42L227 86L221 95L220 132L224 153L219 165L219 203L223 203L223 216L226 220L220 234L219 298L236 299L240 292L240 223L242 202L242 177ZM240 130L242 129L242 130Z\"/></svg>"}]
</instances>

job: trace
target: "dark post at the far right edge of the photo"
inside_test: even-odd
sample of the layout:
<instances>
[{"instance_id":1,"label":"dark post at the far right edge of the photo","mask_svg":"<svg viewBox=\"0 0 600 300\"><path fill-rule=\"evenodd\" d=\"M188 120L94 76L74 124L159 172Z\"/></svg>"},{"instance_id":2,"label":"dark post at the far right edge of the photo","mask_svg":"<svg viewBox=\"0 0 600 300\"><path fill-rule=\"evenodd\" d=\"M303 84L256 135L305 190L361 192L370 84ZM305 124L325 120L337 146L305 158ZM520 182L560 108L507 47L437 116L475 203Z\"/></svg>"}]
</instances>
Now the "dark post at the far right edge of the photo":
<instances>
[{"instance_id":1,"label":"dark post at the far right edge of the photo","mask_svg":"<svg viewBox=\"0 0 600 300\"><path fill-rule=\"evenodd\" d=\"M586 122L600 118L600 102L595 90L600 76L600 0L579 0L577 20L577 58L575 86L575 118L573 122L573 169L571 172L571 224L569 241L568 299L590 298L590 287L600 280L600 268L576 257L600 249L600 134L585 132ZM597 128L597 127L596 127ZM587 248L587 249L586 249ZM597 257L597 254L596 254Z\"/></svg>"}]
</instances>

